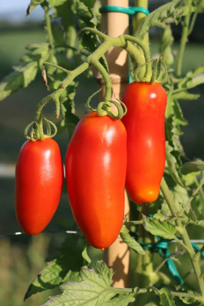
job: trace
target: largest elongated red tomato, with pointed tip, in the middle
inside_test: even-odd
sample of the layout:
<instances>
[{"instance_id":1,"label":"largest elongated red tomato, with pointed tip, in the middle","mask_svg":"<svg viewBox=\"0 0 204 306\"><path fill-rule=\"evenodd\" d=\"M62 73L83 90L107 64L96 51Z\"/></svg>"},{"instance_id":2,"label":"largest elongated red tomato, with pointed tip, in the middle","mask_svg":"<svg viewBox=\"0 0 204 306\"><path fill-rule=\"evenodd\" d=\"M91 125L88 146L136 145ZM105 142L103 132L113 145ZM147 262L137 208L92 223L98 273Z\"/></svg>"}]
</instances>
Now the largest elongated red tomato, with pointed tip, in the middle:
<instances>
[{"instance_id":1,"label":"largest elongated red tomato, with pointed tip, in the middle","mask_svg":"<svg viewBox=\"0 0 204 306\"><path fill-rule=\"evenodd\" d=\"M120 120L85 115L66 156L66 182L75 221L102 250L118 237L124 216L126 131Z\"/></svg>"}]
</instances>

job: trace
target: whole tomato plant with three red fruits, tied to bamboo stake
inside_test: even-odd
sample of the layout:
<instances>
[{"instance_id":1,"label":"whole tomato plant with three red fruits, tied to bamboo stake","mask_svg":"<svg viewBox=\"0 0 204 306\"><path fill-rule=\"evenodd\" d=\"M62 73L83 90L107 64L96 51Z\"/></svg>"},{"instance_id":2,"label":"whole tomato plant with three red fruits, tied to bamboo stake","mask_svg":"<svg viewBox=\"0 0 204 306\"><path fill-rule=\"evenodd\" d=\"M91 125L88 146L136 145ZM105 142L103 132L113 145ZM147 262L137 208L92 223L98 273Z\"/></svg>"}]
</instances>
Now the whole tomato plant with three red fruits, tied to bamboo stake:
<instances>
[{"instance_id":1,"label":"whole tomato plant with three red fruits, tied to bamboo stake","mask_svg":"<svg viewBox=\"0 0 204 306\"><path fill-rule=\"evenodd\" d=\"M198 98L189 89L204 83L203 66L186 75L182 71L188 37L197 15L204 12L203 1L169 1L150 14L147 1L135 3L136 8L126 4L125 9L99 9L97 0L31 0L27 14L41 5L47 41L29 44L22 66L0 84L3 99L26 87L42 70L44 85L52 91L39 102L34 121L25 128L29 141L16 165L16 215L28 234L36 235L47 225L62 190L60 151L50 139L57 127L43 116L50 101L60 121L58 132L67 131L70 139L65 168L73 213L67 218L73 224L61 222L67 239L25 295L61 286L62 293L46 306L204 303L204 246L192 241L202 238L204 162L187 157L180 139L187 124L180 100ZM133 16L134 35L123 34L129 28L127 14ZM177 50L172 22L182 25ZM160 55L152 55L148 43L149 29L154 27L162 29ZM82 73L83 104L91 87L88 78L94 76L102 90L95 109L89 104L94 94L88 98L89 113L81 98L80 120L74 96ZM133 82L128 84L130 76ZM125 184L129 198L124 197ZM136 206L131 199L146 205ZM65 214L68 199L66 208ZM103 252L107 265L97 261L101 252L93 247L107 248ZM175 265L175 257L184 264Z\"/></svg>"}]
</instances>

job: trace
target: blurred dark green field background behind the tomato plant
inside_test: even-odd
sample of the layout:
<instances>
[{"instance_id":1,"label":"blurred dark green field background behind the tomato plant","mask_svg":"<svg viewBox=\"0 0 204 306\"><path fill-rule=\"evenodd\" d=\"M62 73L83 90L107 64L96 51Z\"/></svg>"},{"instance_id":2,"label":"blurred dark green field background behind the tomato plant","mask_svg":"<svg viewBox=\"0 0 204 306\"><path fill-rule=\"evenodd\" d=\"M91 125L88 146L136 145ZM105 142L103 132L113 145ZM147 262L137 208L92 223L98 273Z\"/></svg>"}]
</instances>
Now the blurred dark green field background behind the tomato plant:
<instances>
[{"instance_id":1,"label":"blurred dark green field background behind the tomato plant","mask_svg":"<svg viewBox=\"0 0 204 306\"><path fill-rule=\"evenodd\" d=\"M0 18L1 17L0 15ZM200 31L203 23L200 19L196 23L190 42L187 45L183 74L203 65L203 32ZM203 28L202 28L203 29ZM181 28L174 28L176 38L180 37ZM151 55L159 53L159 31L150 35ZM31 42L43 42L45 31L42 22L29 21L10 23L0 19L0 80L11 71L12 66L20 64L20 57L25 53L25 45ZM176 40L174 50L179 48ZM85 113L86 99L97 90L93 79L79 77L80 86L75 98L77 114L82 117ZM204 159L204 87L199 86L193 92L200 93L196 101L181 101L185 118L189 125L183 127L182 143L189 158ZM28 88L20 89L0 104L0 235L18 232L20 227L16 221L14 210L14 168L19 149L25 141L24 127L33 120L38 102L47 95L40 72L37 79ZM45 108L46 117L54 119L54 104ZM62 157L67 149L67 134L58 134L55 140L59 143ZM6 168L5 168L6 165ZM9 170L8 170L9 169ZM70 229L73 219L68 205L66 192L63 193L59 208L46 231L60 231L65 227ZM204 238L203 230L192 230L192 238ZM60 239L62 234L44 233L37 237L7 236L0 238L0 304L4 306L22 305L24 294L32 279L41 270L47 254L50 239ZM175 247L175 245L173 246ZM101 257L101 252L90 250L95 258ZM187 262L186 262L187 263ZM164 268L165 269L165 268ZM184 269L185 271L185 269ZM191 278L192 282L192 278ZM40 305L53 292L45 291L36 294L25 302L25 305ZM56 293L56 291L55 291Z\"/></svg>"}]
</instances>

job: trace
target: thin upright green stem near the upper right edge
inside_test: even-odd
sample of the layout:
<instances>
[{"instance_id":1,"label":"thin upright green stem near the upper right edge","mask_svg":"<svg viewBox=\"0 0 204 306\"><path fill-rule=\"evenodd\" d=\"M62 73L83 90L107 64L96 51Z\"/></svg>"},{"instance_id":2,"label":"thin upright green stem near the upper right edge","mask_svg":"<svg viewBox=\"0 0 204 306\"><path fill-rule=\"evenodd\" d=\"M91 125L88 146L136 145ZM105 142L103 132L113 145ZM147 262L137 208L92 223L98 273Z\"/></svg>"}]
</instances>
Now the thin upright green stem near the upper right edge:
<instances>
[{"instance_id":1,"label":"thin upright green stem near the upper right edge","mask_svg":"<svg viewBox=\"0 0 204 306\"><path fill-rule=\"evenodd\" d=\"M184 50L185 50L188 35L189 35L189 22L190 22L190 15L187 15L185 16L184 23L183 23L179 55L177 57L177 63L176 63L176 77L181 77L181 74L182 74L182 61L183 61Z\"/></svg>"}]
</instances>

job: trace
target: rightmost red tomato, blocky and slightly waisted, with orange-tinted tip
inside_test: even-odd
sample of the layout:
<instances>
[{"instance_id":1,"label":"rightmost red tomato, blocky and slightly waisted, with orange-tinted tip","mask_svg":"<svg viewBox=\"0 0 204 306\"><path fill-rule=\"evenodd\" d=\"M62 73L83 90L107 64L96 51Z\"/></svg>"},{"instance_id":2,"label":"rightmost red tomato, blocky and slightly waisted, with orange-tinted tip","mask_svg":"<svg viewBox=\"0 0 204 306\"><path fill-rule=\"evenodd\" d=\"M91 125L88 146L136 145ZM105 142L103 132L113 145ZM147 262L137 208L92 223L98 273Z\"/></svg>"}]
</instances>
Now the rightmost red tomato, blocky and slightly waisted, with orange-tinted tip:
<instances>
[{"instance_id":1,"label":"rightmost red tomato, blocky and slightly waisted, with orange-tinted tip","mask_svg":"<svg viewBox=\"0 0 204 306\"><path fill-rule=\"evenodd\" d=\"M165 109L167 95L158 83L127 85L123 97L127 114L126 189L138 204L155 201L165 167Z\"/></svg>"}]
</instances>

